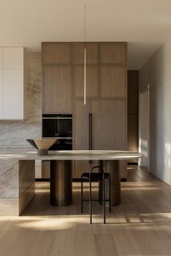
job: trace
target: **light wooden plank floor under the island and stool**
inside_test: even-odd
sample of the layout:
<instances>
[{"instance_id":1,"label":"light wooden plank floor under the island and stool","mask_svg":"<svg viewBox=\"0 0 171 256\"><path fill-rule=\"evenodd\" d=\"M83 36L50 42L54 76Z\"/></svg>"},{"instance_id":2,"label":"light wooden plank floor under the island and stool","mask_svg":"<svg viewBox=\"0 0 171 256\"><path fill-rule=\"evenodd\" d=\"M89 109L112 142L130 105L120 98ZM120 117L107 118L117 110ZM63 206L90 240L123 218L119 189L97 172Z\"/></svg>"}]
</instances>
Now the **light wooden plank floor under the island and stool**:
<instances>
[{"instance_id":1,"label":"light wooden plank floor under the island and stool","mask_svg":"<svg viewBox=\"0 0 171 256\"><path fill-rule=\"evenodd\" d=\"M49 206L49 183L36 183L22 216L0 218L0 256L170 256L171 187L143 169L130 168L128 177L106 225L97 202L92 225L88 202L80 213L80 183L73 184L73 205L62 208Z\"/></svg>"}]
</instances>

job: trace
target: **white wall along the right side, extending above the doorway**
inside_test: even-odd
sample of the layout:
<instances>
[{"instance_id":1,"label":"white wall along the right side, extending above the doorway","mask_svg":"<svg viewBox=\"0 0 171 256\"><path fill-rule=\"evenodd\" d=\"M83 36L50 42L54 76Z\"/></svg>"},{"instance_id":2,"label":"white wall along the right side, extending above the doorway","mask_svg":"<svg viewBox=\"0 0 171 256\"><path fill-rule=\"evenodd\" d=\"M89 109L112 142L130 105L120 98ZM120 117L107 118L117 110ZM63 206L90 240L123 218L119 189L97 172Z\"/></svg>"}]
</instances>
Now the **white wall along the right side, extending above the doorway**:
<instances>
[{"instance_id":1,"label":"white wall along the right side, extending above the doorway","mask_svg":"<svg viewBox=\"0 0 171 256\"><path fill-rule=\"evenodd\" d=\"M149 168L171 185L171 38L139 70L149 92Z\"/></svg>"}]
</instances>

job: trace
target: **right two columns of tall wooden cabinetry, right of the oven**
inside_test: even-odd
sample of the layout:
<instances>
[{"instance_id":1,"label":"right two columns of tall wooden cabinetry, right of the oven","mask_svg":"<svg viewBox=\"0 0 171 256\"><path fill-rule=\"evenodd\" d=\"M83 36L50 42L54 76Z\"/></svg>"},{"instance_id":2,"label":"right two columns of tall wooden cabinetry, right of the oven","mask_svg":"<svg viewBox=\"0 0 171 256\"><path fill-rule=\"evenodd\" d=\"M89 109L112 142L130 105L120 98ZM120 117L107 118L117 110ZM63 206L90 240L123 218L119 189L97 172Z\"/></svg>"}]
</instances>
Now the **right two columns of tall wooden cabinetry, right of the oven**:
<instances>
[{"instance_id":1,"label":"right two columns of tall wooden cabinetry, right of the oven","mask_svg":"<svg viewBox=\"0 0 171 256\"><path fill-rule=\"evenodd\" d=\"M87 104L83 104L83 43L74 43L73 115L74 149L89 149L88 115L92 115L92 149L127 149L127 44L92 43L86 46ZM82 55L81 55L81 54ZM80 58L78 58L80 56ZM78 61L79 59L79 61ZM79 65L78 65L79 64ZM80 79L79 79L80 76ZM79 99L80 98L80 99ZM81 99L82 98L82 99ZM125 162L120 166L127 178ZM89 162L75 161L73 173L80 178Z\"/></svg>"}]
</instances>

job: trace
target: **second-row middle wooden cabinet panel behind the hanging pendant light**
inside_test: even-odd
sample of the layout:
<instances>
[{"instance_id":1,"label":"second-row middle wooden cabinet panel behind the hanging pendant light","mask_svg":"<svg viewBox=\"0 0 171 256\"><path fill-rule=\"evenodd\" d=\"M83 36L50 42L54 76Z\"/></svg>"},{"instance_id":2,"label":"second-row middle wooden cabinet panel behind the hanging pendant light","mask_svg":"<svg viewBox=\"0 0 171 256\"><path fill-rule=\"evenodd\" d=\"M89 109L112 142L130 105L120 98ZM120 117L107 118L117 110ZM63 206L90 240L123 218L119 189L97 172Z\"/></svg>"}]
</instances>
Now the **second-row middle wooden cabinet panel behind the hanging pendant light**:
<instances>
[{"instance_id":1,"label":"second-row middle wooden cabinet panel behind the hanging pendant light","mask_svg":"<svg viewBox=\"0 0 171 256\"><path fill-rule=\"evenodd\" d=\"M74 66L74 96L83 98L84 94L84 67ZM99 97L99 66L86 67L86 96Z\"/></svg>"}]
</instances>

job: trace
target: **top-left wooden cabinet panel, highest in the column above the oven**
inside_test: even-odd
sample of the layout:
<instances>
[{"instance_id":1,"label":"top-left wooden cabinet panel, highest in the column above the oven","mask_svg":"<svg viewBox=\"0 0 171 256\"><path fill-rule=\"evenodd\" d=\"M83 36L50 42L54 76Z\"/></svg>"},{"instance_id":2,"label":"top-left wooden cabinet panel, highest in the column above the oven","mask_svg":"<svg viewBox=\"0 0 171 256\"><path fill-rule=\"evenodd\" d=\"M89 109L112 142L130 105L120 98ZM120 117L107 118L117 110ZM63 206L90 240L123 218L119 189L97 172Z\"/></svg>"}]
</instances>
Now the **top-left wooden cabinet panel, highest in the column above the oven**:
<instances>
[{"instance_id":1,"label":"top-left wooden cabinet panel, highest in the column above the oven","mask_svg":"<svg viewBox=\"0 0 171 256\"><path fill-rule=\"evenodd\" d=\"M72 43L42 43L43 65L71 65Z\"/></svg>"}]
</instances>

